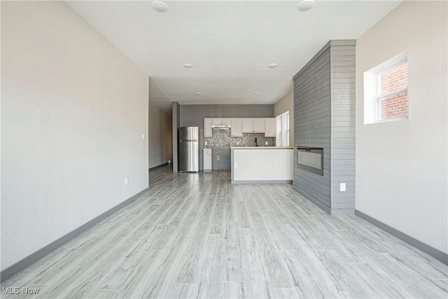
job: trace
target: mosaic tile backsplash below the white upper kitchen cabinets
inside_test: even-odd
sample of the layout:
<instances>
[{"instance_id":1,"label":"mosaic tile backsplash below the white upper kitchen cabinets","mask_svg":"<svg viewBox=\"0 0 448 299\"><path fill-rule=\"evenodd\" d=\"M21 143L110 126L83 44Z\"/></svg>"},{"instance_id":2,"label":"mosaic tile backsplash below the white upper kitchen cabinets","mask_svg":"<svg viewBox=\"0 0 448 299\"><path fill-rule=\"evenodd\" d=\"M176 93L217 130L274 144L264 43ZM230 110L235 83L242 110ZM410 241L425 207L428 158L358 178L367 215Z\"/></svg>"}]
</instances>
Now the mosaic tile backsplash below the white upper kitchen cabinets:
<instances>
[{"instance_id":1,"label":"mosaic tile backsplash below the white upper kitchen cabinets","mask_svg":"<svg viewBox=\"0 0 448 299\"><path fill-rule=\"evenodd\" d=\"M243 137L231 137L230 130L213 129L211 138L205 138L206 148L230 148L231 146L255 146L255 138L258 146L275 146L275 137L265 137L265 134L243 134ZM239 144L237 145L237 142Z\"/></svg>"}]
</instances>

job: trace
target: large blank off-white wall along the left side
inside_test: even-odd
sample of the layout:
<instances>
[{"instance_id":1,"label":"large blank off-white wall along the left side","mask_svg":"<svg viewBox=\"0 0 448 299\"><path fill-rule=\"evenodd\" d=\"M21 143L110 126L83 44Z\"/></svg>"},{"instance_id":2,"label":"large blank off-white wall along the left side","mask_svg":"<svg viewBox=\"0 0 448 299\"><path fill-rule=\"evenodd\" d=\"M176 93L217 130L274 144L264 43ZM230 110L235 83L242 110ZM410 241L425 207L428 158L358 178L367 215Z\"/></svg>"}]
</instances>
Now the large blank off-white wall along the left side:
<instances>
[{"instance_id":1,"label":"large blank off-white wall along the left side","mask_svg":"<svg viewBox=\"0 0 448 299\"><path fill-rule=\"evenodd\" d=\"M63 1L1 1L1 39L4 270L148 187L148 76Z\"/></svg>"}]
</instances>

